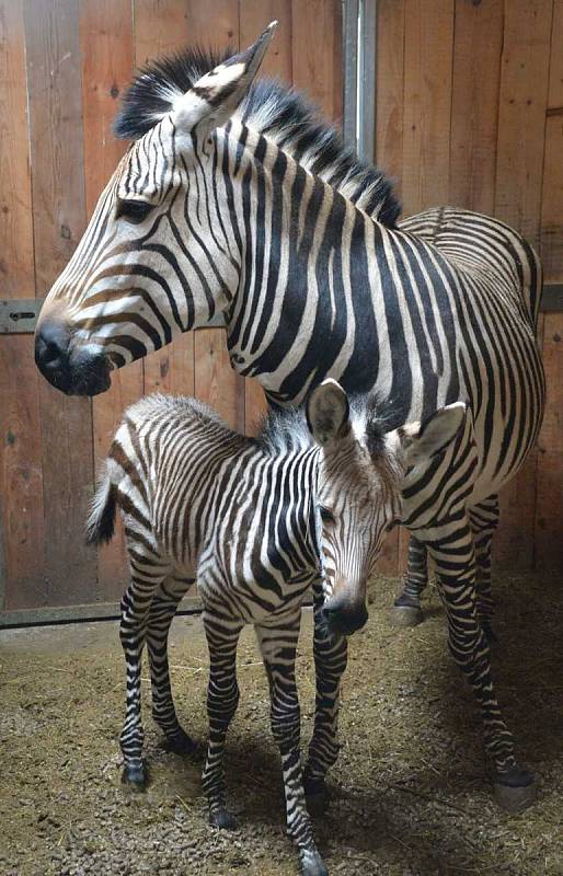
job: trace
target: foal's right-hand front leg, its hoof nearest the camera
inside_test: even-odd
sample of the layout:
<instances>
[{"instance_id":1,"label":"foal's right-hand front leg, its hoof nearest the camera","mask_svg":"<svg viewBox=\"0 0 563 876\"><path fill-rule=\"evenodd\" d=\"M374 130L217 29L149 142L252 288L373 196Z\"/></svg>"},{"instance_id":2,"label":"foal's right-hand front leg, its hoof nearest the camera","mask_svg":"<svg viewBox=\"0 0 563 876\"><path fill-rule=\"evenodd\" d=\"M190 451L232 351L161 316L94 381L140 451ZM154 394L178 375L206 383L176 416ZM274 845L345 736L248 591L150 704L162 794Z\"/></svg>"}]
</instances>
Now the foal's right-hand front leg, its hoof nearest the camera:
<instances>
[{"instance_id":1,"label":"foal's right-hand front leg, its hoof nearest the camera","mask_svg":"<svg viewBox=\"0 0 563 876\"><path fill-rule=\"evenodd\" d=\"M305 799L301 769L300 714L295 661L301 612L276 626L256 626L269 682L272 733L282 754L287 832L299 850L303 876L328 876L317 850Z\"/></svg>"}]
</instances>

